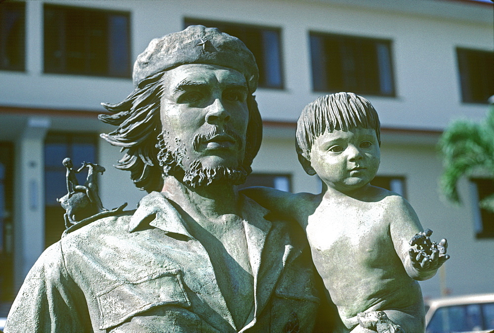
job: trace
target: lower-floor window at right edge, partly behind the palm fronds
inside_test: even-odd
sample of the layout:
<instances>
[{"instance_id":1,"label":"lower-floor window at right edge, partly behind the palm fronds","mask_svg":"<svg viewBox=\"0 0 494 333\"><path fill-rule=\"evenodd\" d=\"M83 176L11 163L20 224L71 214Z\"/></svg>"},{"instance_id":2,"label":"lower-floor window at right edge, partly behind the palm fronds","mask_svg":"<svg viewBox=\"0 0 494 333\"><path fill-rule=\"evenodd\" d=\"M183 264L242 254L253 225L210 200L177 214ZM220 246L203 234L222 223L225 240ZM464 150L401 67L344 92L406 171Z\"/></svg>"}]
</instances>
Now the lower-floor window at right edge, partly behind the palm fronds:
<instances>
[{"instance_id":1,"label":"lower-floor window at right edge, partly behind the palm fronds","mask_svg":"<svg viewBox=\"0 0 494 333\"><path fill-rule=\"evenodd\" d=\"M480 208L478 202L494 196L494 180L487 178L470 179L473 185L472 196L476 199L474 205L475 233L477 238L494 238L494 213Z\"/></svg>"}]
</instances>

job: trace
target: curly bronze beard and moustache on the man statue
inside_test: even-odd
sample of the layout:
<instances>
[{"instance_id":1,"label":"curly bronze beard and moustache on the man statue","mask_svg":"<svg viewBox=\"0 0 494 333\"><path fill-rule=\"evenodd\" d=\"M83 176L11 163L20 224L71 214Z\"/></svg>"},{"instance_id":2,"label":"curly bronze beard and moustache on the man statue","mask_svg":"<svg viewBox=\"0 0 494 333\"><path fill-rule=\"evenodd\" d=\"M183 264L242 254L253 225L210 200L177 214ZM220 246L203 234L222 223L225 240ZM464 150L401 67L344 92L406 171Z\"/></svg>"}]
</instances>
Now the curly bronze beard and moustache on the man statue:
<instances>
[{"instance_id":1,"label":"curly bronze beard and moustache on the man statue","mask_svg":"<svg viewBox=\"0 0 494 333\"><path fill-rule=\"evenodd\" d=\"M227 133L235 138L238 143L241 143L240 137L233 132ZM198 134L194 138L193 147L196 148L201 140L212 138L216 135L216 129L213 128L208 133ZM170 137L168 132L162 131L158 136L158 162L163 168L165 176L173 176L177 179L182 178L184 184L198 188L209 185L241 185L247 179L247 170L239 162L237 166L215 166L203 167L200 160L193 160L189 166L185 166L183 161L188 159L185 146L180 143L180 139L175 138L176 148L172 149L168 142ZM247 168L251 170L250 167Z\"/></svg>"}]
</instances>

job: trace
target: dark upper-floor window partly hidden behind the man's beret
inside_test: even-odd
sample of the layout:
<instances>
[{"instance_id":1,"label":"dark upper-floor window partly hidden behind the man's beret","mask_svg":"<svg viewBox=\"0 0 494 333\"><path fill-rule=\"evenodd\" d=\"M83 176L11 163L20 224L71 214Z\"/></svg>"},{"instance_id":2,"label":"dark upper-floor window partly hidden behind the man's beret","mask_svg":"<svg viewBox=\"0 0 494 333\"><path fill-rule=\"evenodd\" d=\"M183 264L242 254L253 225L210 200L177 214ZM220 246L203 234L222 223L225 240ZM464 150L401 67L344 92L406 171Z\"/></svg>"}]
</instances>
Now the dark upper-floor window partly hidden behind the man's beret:
<instances>
[{"instance_id":1,"label":"dark upper-floor window partly hidden behind the man's beret","mask_svg":"<svg viewBox=\"0 0 494 333\"><path fill-rule=\"evenodd\" d=\"M221 32L242 40L257 62L259 86L283 88L280 29L185 19L185 27L198 24L218 28Z\"/></svg>"}]
</instances>

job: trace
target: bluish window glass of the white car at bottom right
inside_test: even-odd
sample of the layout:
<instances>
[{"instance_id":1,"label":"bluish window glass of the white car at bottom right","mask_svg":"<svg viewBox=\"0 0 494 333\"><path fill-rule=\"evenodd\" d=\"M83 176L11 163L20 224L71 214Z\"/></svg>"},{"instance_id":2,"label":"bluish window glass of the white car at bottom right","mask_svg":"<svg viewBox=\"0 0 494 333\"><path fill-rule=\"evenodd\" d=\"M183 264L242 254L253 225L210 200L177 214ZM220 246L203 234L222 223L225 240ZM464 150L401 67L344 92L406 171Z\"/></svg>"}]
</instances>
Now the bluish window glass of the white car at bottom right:
<instances>
[{"instance_id":1,"label":"bluish window glass of the white car at bottom right","mask_svg":"<svg viewBox=\"0 0 494 333\"><path fill-rule=\"evenodd\" d=\"M436 310L426 333L469 332L494 329L494 303L464 304Z\"/></svg>"}]
</instances>

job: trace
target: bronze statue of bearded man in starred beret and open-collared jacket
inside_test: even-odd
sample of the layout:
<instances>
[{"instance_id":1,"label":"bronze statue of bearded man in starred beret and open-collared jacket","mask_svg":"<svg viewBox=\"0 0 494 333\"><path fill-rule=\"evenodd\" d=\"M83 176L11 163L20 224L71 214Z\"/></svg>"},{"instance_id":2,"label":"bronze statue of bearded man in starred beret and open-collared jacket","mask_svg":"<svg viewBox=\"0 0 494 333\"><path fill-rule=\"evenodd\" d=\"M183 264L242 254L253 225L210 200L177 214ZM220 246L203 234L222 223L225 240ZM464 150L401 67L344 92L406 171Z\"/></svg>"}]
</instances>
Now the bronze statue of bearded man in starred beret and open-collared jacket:
<instances>
[{"instance_id":1,"label":"bronze statue of bearded man in starred beret and open-collared jacket","mask_svg":"<svg viewBox=\"0 0 494 333\"><path fill-rule=\"evenodd\" d=\"M151 41L101 136L148 192L80 223L29 272L5 332L310 332L307 241L239 194L261 142L258 70L238 38L191 26ZM323 297L324 298L324 297ZM325 327L325 330L328 330Z\"/></svg>"}]
</instances>

